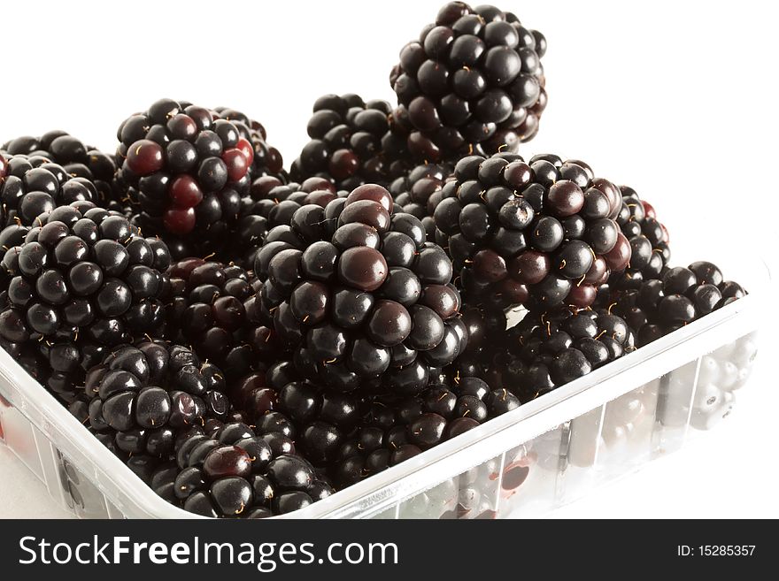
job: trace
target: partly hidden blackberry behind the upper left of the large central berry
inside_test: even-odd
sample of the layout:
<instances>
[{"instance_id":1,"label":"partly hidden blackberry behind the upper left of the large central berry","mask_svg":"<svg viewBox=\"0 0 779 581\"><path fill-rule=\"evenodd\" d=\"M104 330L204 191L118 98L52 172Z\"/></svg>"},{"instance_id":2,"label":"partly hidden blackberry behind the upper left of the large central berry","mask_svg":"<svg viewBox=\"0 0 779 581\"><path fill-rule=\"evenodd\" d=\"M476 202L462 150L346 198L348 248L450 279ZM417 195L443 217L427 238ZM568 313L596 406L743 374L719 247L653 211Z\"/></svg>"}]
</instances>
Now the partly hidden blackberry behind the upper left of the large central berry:
<instances>
[{"instance_id":1,"label":"partly hidden blackberry behind the upper left of the large central berry","mask_svg":"<svg viewBox=\"0 0 779 581\"><path fill-rule=\"evenodd\" d=\"M274 226L289 226L292 214L307 203L324 207L330 200L348 192L336 193L336 187L324 178L308 178L303 183L282 184L272 176L254 180L251 195L241 200L234 240L222 253L225 260L251 270L254 256L262 247L268 230Z\"/></svg>"}]
</instances>

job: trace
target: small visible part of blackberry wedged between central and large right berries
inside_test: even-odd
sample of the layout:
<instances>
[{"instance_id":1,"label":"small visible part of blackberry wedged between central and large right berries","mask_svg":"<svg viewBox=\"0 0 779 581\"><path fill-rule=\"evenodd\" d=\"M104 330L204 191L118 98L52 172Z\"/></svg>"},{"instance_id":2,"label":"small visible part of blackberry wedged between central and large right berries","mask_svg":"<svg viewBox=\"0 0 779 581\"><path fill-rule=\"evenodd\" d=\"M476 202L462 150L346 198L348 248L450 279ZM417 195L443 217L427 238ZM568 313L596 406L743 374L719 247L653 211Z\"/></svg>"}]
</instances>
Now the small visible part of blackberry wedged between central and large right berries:
<instances>
[{"instance_id":1,"label":"small visible part of blackberry wedged between central and large right berries","mask_svg":"<svg viewBox=\"0 0 779 581\"><path fill-rule=\"evenodd\" d=\"M429 241L436 240L433 213L443 199L441 190L453 169L451 164L420 164L393 180L388 187L396 208L419 218L425 226Z\"/></svg>"}]
</instances>

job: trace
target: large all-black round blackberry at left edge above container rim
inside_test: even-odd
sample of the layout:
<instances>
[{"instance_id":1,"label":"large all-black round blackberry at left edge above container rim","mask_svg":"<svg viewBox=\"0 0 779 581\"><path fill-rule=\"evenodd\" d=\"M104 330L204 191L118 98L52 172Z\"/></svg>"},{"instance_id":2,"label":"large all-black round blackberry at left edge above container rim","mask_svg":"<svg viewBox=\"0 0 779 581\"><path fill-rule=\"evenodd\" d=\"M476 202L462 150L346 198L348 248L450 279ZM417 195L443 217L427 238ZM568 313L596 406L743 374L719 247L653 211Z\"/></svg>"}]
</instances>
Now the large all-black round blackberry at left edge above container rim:
<instances>
[{"instance_id":1,"label":"large all-black round blackberry at left edge above container rim","mask_svg":"<svg viewBox=\"0 0 779 581\"><path fill-rule=\"evenodd\" d=\"M116 212L89 202L47 211L5 253L10 282L0 334L37 345L52 369L50 389L72 397L107 348L164 324L159 297L168 264L166 245L143 239Z\"/></svg>"}]
</instances>

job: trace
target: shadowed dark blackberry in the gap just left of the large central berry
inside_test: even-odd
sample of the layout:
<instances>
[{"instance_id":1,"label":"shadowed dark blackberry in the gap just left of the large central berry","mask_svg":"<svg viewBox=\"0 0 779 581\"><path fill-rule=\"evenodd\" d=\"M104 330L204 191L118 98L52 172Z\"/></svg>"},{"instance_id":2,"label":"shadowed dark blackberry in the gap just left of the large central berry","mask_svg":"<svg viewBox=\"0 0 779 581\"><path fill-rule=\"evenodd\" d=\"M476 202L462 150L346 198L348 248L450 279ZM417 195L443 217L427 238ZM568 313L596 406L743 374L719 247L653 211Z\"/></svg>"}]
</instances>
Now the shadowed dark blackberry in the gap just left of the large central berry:
<instances>
[{"instance_id":1,"label":"shadowed dark blackberry in the gap just left of the large central berry","mask_svg":"<svg viewBox=\"0 0 779 581\"><path fill-rule=\"evenodd\" d=\"M222 367L228 380L241 378L277 355L273 333L250 325L244 303L256 290L243 268L189 258L173 264L167 275L168 321L181 333L176 340Z\"/></svg>"}]
</instances>

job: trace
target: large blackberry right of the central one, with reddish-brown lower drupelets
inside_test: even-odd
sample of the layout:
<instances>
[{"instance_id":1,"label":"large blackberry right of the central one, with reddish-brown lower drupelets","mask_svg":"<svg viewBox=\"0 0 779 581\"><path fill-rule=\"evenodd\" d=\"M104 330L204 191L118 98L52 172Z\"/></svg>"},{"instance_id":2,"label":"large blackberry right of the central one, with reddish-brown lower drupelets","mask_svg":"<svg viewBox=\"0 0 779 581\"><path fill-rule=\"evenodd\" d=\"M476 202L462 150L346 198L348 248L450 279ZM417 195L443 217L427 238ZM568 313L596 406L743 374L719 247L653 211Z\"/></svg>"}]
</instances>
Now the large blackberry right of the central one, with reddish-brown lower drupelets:
<instances>
[{"instance_id":1,"label":"large blackberry right of the central one, with reddish-brown lower drupelets","mask_svg":"<svg viewBox=\"0 0 779 581\"><path fill-rule=\"evenodd\" d=\"M590 166L554 155L469 156L437 204L436 241L448 248L467 302L584 308L630 244L614 218L620 190Z\"/></svg>"}]
</instances>

